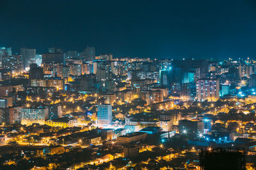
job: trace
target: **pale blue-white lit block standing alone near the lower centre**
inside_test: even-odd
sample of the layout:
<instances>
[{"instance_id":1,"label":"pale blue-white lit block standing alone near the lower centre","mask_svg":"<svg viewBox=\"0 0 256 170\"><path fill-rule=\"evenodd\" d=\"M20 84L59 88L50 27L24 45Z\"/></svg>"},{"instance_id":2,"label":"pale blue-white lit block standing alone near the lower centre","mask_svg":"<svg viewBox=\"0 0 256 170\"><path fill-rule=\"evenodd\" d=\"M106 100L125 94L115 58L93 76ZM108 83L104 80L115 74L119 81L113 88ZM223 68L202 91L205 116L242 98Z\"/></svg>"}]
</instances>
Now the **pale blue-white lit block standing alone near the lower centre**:
<instances>
[{"instance_id":1,"label":"pale blue-white lit block standing alone near the lower centre","mask_svg":"<svg viewBox=\"0 0 256 170\"><path fill-rule=\"evenodd\" d=\"M100 104L97 106L97 109L98 124L112 124L112 106L110 104Z\"/></svg>"}]
</instances>

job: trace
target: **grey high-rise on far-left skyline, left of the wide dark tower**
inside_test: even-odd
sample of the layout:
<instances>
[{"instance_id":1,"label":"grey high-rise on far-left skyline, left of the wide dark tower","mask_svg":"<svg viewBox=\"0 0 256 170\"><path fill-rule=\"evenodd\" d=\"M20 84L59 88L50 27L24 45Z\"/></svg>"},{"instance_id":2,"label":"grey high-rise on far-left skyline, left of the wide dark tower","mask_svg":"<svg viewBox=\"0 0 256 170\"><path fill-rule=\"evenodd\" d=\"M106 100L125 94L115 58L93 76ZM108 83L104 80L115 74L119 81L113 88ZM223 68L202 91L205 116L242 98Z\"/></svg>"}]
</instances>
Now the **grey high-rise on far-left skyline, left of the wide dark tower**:
<instances>
[{"instance_id":1,"label":"grey high-rise on far-left skyline, left of the wide dark tower","mask_svg":"<svg viewBox=\"0 0 256 170\"><path fill-rule=\"evenodd\" d=\"M24 68L28 68L30 64L36 63L36 49L33 48L20 48Z\"/></svg>"}]
</instances>

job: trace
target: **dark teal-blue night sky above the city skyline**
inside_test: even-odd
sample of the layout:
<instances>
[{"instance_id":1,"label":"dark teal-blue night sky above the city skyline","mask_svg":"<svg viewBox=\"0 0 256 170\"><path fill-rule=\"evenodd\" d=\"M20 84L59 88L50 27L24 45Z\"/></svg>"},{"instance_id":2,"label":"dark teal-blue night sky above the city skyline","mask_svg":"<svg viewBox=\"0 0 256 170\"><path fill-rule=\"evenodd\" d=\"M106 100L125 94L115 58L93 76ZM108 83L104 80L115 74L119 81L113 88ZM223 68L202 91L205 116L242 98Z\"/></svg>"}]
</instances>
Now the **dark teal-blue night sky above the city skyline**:
<instances>
[{"instance_id":1,"label":"dark teal-blue night sky above the city skyline","mask_svg":"<svg viewBox=\"0 0 256 170\"><path fill-rule=\"evenodd\" d=\"M253 0L0 1L0 46L114 57L254 57Z\"/></svg>"}]
</instances>

